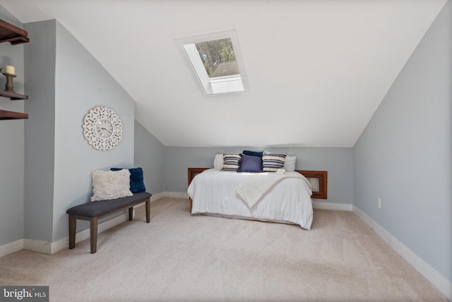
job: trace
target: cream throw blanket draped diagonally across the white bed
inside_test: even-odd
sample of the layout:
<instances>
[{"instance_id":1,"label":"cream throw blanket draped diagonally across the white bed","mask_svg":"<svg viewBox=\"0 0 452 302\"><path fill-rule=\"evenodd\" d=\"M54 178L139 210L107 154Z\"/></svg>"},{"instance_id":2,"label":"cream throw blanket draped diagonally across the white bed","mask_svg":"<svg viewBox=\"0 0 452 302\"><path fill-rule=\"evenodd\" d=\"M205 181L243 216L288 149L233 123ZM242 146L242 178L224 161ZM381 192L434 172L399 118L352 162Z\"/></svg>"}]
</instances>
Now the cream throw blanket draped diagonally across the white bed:
<instances>
[{"instance_id":1,"label":"cream throw blanket draped diagonally across the white bed","mask_svg":"<svg viewBox=\"0 0 452 302\"><path fill-rule=\"evenodd\" d=\"M241 197L249 208L254 207L254 205L261 199L263 194L266 194L268 190L273 187L276 183L280 182L284 178L304 178L303 175L297 172L291 173L259 173L255 175L249 175L244 181L240 182L235 192L239 197ZM309 188L311 188L311 183L306 181Z\"/></svg>"}]
</instances>

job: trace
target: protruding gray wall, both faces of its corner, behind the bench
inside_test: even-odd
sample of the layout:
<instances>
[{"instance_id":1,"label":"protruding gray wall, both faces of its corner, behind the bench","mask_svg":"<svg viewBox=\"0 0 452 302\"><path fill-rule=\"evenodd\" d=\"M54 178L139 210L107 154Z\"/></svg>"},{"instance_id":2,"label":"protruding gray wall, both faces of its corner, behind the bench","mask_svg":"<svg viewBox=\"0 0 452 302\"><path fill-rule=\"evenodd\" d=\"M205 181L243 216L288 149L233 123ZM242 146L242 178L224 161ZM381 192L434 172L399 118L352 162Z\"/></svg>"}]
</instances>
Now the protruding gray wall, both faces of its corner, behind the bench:
<instances>
[{"instance_id":1,"label":"protruding gray wall, both faces of its corner, behind the bench","mask_svg":"<svg viewBox=\"0 0 452 302\"><path fill-rule=\"evenodd\" d=\"M67 237L66 209L89 202L92 170L133 166L134 102L58 21L25 28L33 99L25 129L25 238L52 242ZM83 138L83 117L97 105L121 117L123 136L111 151L97 151Z\"/></svg>"}]
</instances>

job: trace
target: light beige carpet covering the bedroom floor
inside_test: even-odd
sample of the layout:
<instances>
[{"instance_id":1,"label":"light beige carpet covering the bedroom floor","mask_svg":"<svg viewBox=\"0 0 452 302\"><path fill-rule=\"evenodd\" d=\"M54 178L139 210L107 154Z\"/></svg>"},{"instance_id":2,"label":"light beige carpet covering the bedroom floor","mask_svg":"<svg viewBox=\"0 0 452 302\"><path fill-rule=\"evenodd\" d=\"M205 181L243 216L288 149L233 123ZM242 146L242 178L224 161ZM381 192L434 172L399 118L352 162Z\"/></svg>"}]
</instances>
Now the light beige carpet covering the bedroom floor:
<instances>
[{"instance_id":1,"label":"light beige carpet covering the bedroom floor","mask_svg":"<svg viewBox=\"0 0 452 302\"><path fill-rule=\"evenodd\" d=\"M0 258L0 284L48 285L50 301L447 301L348 211L314 211L311 231L191 216L159 199L136 218L54 255Z\"/></svg>"}]
</instances>

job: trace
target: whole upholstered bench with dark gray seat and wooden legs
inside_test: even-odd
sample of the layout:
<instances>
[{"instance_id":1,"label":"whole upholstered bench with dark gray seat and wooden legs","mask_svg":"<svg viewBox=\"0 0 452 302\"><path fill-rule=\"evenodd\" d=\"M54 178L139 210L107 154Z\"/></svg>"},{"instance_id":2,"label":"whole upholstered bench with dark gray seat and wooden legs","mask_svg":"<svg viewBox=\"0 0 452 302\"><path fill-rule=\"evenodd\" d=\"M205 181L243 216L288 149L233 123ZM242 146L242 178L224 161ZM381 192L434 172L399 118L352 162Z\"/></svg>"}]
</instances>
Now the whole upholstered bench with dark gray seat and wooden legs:
<instances>
[{"instance_id":1,"label":"whole upholstered bench with dark gray seat and wooden legs","mask_svg":"<svg viewBox=\"0 0 452 302\"><path fill-rule=\"evenodd\" d=\"M69 248L76 247L76 219L90 221L91 254L97 252L97 221L102 217L129 209L129 221L131 221L133 219L133 206L145 202L146 222L149 223L151 196L148 192L140 192L129 197L88 202L71 207L66 211L69 214Z\"/></svg>"}]
</instances>

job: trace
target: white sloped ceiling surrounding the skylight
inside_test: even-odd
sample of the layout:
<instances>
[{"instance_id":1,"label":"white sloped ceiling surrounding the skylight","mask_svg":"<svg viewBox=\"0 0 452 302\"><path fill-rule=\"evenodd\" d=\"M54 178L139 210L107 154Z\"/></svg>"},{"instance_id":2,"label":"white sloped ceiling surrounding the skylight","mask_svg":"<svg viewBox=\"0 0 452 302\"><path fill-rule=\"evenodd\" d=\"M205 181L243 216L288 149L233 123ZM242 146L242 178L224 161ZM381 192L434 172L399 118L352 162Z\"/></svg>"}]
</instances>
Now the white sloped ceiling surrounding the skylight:
<instances>
[{"instance_id":1,"label":"white sloped ceiling surrounding the skylight","mask_svg":"<svg viewBox=\"0 0 452 302\"><path fill-rule=\"evenodd\" d=\"M445 3L0 0L64 25L165 146L261 147L353 146ZM174 39L230 29L250 93L206 96Z\"/></svg>"}]
</instances>

